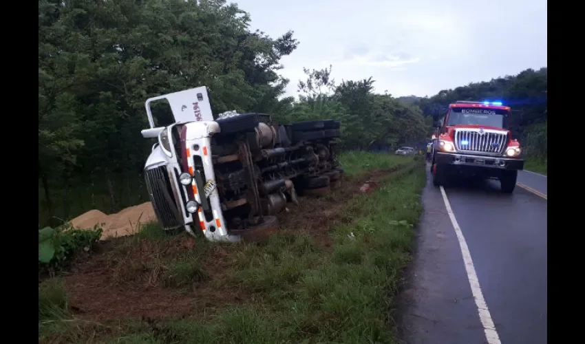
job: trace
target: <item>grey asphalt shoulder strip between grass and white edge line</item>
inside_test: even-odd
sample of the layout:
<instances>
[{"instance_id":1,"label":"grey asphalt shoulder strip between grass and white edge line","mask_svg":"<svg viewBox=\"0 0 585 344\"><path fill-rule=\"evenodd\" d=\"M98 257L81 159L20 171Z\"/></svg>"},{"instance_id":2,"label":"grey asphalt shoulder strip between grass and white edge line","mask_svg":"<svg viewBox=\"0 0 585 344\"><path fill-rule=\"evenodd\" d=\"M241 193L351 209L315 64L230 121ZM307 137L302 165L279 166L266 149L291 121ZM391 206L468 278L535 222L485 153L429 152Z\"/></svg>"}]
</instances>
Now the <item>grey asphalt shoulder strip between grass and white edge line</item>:
<instances>
[{"instance_id":1,"label":"grey asphalt shoulder strip between grass and white edge line","mask_svg":"<svg viewBox=\"0 0 585 344\"><path fill-rule=\"evenodd\" d=\"M428 172L422 201L416 256L398 299L399 335L408 344L485 343L458 239Z\"/></svg>"}]
</instances>

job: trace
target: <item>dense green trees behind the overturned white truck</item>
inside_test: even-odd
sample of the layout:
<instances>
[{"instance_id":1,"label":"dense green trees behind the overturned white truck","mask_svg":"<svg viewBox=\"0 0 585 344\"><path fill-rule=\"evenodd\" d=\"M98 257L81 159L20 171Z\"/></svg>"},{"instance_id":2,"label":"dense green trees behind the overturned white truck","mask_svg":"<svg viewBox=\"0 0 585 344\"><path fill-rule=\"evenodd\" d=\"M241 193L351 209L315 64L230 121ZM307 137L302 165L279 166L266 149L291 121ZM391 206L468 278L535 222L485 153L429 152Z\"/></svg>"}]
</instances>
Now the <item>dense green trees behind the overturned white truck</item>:
<instances>
[{"instance_id":1,"label":"dense green trees behind the overturned white truck","mask_svg":"<svg viewBox=\"0 0 585 344\"><path fill-rule=\"evenodd\" d=\"M421 111L373 94L371 78L334 85L330 69L307 70L300 100L283 97L279 61L299 42L249 23L224 0L39 1L39 226L147 200L140 173L153 142L140 129L159 94L206 85L215 114L340 119L352 149L427 135Z\"/></svg>"}]
</instances>

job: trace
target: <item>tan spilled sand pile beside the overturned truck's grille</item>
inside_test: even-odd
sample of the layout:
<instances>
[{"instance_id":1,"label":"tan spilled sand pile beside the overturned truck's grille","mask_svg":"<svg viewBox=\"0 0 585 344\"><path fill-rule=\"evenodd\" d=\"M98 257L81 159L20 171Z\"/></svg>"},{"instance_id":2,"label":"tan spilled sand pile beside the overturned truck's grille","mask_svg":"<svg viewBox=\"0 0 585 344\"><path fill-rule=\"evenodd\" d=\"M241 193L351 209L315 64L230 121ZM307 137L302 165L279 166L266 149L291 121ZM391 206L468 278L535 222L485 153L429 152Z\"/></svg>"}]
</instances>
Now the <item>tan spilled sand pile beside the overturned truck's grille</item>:
<instances>
[{"instance_id":1,"label":"tan spilled sand pile beside the overturned truck's grille","mask_svg":"<svg viewBox=\"0 0 585 344\"><path fill-rule=\"evenodd\" d=\"M75 228L83 229L92 229L95 225L98 225L103 228L102 237L100 238L103 240L108 237L123 237L135 234L140 225L151 221L156 221L156 215L154 215L152 204L146 202L110 215L93 209L72 219L71 224Z\"/></svg>"}]
</instances>

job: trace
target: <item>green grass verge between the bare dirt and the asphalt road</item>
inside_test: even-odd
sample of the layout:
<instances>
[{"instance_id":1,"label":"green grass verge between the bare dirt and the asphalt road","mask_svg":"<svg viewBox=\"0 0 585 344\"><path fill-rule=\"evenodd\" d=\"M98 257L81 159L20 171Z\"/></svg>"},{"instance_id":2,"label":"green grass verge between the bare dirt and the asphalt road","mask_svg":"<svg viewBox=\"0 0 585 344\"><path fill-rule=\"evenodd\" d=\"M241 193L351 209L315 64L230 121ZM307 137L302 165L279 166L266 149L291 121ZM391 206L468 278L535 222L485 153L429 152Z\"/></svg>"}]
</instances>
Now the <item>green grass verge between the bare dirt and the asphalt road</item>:
<instances>
[{"instance_id":1,"label":"green grass verge between the bare dirt and the asphalt road","mask_svg":"<svg viewBox=\"0 0 585 344\"><path fill-rule=\"evenodd\" d=\"M211 321L136 320L105 329L103 324L56 320L41 330L39 342L57 336L61 341L52 343L396 343L388 316L422 210L423 162L366 152L340 159L348 174L408 165L374 193L345 204L343 213L352 221L334 228L330 252L301 233L279 233L262 244L232 250L237 265L226 283L253 292L253 302L223 310ZM146 238L164 239L153 228L142 230ZM204 267L191 264L200 261L192 255L202 255L214 244L200 242L205 248L170 264L163 283L182 288L207 277Z\"/></svg>"}]
</instances>

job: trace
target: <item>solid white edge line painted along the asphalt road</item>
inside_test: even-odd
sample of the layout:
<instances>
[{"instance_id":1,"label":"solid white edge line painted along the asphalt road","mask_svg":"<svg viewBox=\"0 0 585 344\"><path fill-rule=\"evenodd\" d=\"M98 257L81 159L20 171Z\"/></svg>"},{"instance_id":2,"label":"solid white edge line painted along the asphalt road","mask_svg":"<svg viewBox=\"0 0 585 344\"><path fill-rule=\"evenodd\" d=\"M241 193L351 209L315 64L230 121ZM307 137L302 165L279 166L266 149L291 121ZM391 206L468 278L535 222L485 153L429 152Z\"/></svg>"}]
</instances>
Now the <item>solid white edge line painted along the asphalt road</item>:
<instances>
[{"instance_id":1,"label":"solid white edge line painted along the asphalt road","mask_svg":"<svg viewBox=\"0 0 585 344\"><path fill-rule=\"evenodd\" d=\"M485 332L485 338L487 339L487 343L501 344L502 342L500 342L500 336L498 336L496 326L493 325L493 321L491 320L491 314L489 314L487 304L485 303L483 293L481 292L480 282L478 280L478 275L476 275L476 268L474 267L474 261L471 259L471 253L469 252L469 248L467 247L467 242L465 241L465 237L463 236L461 228L457 223L457 219L455 218L455 214L451 209L451 204L449 204L449 200L447 199L447 193L445 193L445 189L443 189L443 186L440 186L440 193L441 195L443 195L443 201L445 201L445 208L447 208L447 213L449 214L451 224L453 224L455 234L457 235L457 239L459 241L459 247L461 248L463 263L465 263L465 270L467 271L467 280L469 281L469 286L471 286L471 293L474 295L474 300L476 301L478 314L480 316L480 321L483 325L483 331Z\"/></svg>"}]
</instances>

